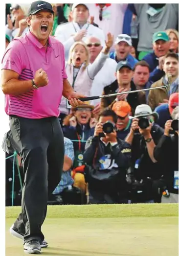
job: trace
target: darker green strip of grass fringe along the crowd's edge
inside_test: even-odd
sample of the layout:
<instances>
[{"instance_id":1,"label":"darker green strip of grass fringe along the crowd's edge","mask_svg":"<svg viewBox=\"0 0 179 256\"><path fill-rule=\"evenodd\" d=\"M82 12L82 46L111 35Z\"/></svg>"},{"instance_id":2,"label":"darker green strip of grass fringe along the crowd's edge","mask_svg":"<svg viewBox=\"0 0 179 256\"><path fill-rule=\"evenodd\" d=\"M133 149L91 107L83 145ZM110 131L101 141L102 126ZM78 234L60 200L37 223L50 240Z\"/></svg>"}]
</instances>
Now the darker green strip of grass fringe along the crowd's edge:
<instances>
[{"instance_id":1,"label":"darker green strip of grass fringe along the crowd's edge","mask_svg":"<svg viewBox=\"0 0 179 256\"><path fill-rule=\"evenodd\" d=\"M16 218L21 207L6 207L6 218ZM178 204L48 206L47 218L115 218L178 216Z\"/></svg>"}]
</instances>

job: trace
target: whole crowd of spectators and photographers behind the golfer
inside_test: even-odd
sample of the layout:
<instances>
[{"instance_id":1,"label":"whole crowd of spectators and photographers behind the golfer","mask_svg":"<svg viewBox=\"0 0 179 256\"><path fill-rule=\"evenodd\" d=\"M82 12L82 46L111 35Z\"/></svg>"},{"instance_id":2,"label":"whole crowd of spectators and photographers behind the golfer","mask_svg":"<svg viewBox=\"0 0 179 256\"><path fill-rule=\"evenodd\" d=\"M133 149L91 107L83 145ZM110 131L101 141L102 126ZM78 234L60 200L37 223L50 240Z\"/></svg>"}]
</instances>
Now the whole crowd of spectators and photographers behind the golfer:
<instances>
[{"instance_id":1,"label":"whole crowd of spectators and photographers behind the golfer","mask_svg":"<svg viewBox=\"0 0 179 256\"><path fill-rule=\"evenodd\" d=\"M28 31L29 6L6 4L6 47ZM63 174L48 204L178 202L179 4L52 6L51 36L64 45L74 90L123 94L76 108L62 98ZM6 162L9 205L13 163Z\"/></svg>"}]
</instances>

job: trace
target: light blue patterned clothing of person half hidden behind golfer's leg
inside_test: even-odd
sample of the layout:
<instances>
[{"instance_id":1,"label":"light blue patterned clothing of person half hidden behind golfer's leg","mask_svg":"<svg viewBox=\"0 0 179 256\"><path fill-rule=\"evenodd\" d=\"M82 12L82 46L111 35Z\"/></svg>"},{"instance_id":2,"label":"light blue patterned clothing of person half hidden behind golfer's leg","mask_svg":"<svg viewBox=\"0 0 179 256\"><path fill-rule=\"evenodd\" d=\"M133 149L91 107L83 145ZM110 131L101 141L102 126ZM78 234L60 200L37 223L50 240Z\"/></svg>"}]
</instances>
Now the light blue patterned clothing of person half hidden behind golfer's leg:
<instances>
[{"instance_id":1,"label":"light blue patterned clothing of person half hidden behind golfer's leg","mask_svg":"<svg viewBox=\"0 0 179 256\"><path fill-rule=\"evenodd\" d=\"M64 146L65 146L65 155L74 161L74 150L73 142L66 137L64 137ZM55 188L52 194L61 193L67 186L70 186L74 183L74 180L71 178L71 170L63 171L62 178L59 185Z\"/></svg>"}]
</instances>

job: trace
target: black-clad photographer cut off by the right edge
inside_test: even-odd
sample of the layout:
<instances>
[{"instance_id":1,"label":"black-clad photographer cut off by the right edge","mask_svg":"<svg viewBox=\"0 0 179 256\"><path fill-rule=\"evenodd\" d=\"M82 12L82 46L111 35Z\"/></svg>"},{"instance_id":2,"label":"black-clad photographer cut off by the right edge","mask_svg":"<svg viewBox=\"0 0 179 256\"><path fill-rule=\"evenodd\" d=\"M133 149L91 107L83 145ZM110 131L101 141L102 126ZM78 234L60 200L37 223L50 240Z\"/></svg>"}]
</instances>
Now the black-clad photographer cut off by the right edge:
<instances>
[{"instance_id":1,"label":"black-clad photographer cut off by the right edge","mask_svg":"<svg viewBox=\"0 0 179 256\"><path fill-rule=\"evenodd\" d=\"M155 159L164 166L161 203L179 203L179 107L172 118L166 121L164 135L154 149Z\"/></svg>"}]
</instances>

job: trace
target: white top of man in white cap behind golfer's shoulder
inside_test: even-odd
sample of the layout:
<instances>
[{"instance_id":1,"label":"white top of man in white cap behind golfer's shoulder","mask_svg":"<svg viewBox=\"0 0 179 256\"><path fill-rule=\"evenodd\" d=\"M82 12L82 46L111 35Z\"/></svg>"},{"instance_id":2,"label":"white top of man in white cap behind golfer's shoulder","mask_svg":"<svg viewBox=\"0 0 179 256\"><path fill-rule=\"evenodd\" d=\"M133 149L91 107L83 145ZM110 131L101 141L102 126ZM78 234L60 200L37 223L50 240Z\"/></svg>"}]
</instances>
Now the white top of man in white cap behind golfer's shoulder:
<instances>
[{"instance_id":1,"label":"white top of man in white cap behind golfer's shoulder","mask_svg":"<svg viewBox=\"0 0 179 256\"><path fill-rule=\"evenodd\" d=\"M57 26L55 31L55 38L63 43L65 47L65 59L68 60L68 54L70 47L75 43L73 36L81 29L87 29L87 35L83 38L85 41L88 37L94 36L100 39L102 46L105 46L105 35L102 29L93 26L89 23L79 27L78 23L68 22Z\"/></svg>"}]
</instances>

